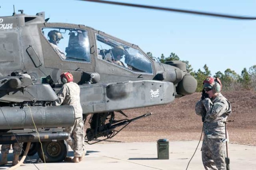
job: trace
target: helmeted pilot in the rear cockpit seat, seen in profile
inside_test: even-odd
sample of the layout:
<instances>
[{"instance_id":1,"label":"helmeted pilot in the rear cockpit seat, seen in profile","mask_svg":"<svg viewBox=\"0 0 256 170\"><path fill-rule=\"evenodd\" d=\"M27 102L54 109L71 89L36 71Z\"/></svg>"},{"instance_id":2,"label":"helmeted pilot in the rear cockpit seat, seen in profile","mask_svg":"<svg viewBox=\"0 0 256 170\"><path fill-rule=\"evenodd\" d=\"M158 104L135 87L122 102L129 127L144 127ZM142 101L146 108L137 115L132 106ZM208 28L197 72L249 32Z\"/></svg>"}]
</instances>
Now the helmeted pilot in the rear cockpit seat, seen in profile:
<instances>
[{"instance_id":1,"label":"helmeted pilot in the rear cockpit seat, seen in profile","mask_svg":"<svg viewBox=\"0 0 256 170\"><path fill-rule=\"evenodd\" d=\"M65 53L62 50L60 50L60 48L57 45L60 42L60 40L63 38L62 34L57 30L51 30L48 32L48 37L50 39L49 42L51 46L61 56L61 58L65 60L66 59Z\"/></svg>"}]
</instances>

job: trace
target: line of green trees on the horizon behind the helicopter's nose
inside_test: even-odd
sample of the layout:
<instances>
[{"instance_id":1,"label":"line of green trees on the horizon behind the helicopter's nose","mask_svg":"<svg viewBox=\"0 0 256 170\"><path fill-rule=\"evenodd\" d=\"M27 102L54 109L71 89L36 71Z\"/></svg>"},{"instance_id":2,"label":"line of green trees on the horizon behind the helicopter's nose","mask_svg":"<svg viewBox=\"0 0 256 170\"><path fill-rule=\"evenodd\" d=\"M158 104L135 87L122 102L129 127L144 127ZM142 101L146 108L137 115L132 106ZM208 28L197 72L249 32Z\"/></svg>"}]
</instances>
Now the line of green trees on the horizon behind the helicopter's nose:
<instances>
[{"instance_id":1,"label":"line of green trees on the horizon behind the helicopter's nose","mask_svg":"<svg viewBox=\"0 0 256 170\"><path fill-rule=\"evenodd\" d=\"M147 55L150 58L155 58L151 52L147 52ZM202 91L203 84L201 82L204 81L206 77L218 77L222 82L222 90L223 91L234 91L234 90L256 90L256 65L253 65L247 70L244 68L240 74L236 73L234 70L227 68L224 73L218 71L214 75L209 70L208 66L205 64L203 69L198 69L197 71L193 71L192 66L188 61L180 60L178 55L175 53L171 53L169 57L165 57L162 54L157 58L159 62L165 63L167 61L179 60L186 63L186 69L194 78L196 78L198 84L196 91Z\"/></svg>"}]
</instances>

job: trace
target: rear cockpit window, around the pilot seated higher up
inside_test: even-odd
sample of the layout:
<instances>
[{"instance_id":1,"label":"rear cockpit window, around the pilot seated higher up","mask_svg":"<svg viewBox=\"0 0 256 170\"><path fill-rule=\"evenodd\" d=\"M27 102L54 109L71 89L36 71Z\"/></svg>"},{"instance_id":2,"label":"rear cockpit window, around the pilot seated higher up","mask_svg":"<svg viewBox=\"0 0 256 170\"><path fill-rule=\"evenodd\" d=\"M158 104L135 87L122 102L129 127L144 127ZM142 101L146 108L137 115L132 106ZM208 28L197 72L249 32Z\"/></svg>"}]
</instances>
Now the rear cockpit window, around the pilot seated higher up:
<instances>
[{"instance_id":1,"label":"rear cockpit window, around the pilot seated higher up","mask_svg":"<svg viewBox=\"0 0 256 170\"><path fill-rule=\"evenodd\" d=\"M42 28L42 33L62 60L90 62L88 32L76 28Z\"/></svg>"}]
</instances>

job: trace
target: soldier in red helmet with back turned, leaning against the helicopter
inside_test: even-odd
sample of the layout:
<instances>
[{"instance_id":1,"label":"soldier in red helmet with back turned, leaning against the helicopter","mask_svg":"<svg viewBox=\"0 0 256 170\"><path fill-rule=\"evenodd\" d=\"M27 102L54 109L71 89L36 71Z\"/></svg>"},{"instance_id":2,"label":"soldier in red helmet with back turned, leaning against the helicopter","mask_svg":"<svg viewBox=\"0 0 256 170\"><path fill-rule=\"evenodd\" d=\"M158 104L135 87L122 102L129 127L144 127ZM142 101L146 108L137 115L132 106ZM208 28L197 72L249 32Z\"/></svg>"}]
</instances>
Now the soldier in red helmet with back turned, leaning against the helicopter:
<instances>
[{"instance_id":1,"label":"soldier in red helmet with back turned, leaning against the helicopter","mask_svg":"<svg viewBox=\"0 0 256 170\"><path fill-rule=\"evenodd\" d=\"M82 120L82 107L80 104L80 87L73 82L73 76L69 72L60 75L63 86L58 92L56 106L71 105L74 107L75 123L72 127L66 127L69 137L66 139L69 146L74 151L72 162L80 162L84 157L84 122Z\"/></svg>"}]
</instances>

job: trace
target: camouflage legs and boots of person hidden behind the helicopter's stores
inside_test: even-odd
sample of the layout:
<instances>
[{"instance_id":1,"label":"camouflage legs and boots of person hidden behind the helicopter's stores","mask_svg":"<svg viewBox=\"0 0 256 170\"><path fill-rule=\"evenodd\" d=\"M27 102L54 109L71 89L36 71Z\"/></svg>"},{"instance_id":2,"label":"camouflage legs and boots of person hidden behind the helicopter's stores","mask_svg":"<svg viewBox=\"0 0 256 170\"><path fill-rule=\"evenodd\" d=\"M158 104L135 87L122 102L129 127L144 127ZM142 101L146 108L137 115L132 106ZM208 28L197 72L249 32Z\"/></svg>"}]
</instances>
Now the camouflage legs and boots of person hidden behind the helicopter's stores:
<instances>
[{"instance_id":1,"label":"camouflage legs and boots of person hidden behind the helicopter's stores","mask_svg":"<svg viewBox=\"0 0 256 170\"><path fill-rule=\"evenodd\" d=\"M5 144L1 146L1 153L2 153L2 159L0 162L0 165L5 165L8 163L7 155L9 153L9 150L11 148L11 144ZM22 143L14 143L12 144L13 149L13 159L12 159L12 165L16 165L19 162L19 156L22 152Z\"/></svg>"}]
</instances>

